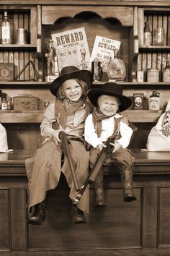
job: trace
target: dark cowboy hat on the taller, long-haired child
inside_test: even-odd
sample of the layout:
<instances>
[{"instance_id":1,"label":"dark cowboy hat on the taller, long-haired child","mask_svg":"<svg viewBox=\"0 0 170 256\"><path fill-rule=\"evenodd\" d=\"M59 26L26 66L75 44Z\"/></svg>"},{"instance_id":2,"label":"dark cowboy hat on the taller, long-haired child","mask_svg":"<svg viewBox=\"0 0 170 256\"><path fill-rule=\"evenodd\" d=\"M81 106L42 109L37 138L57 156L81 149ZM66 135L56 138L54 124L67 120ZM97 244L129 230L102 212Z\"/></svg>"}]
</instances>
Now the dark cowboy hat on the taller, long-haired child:
<instances>
[{"instance_id":1,"label":"dark cowboy hat on the taller, long-haired child","mask_svg":"<svg viewBox=\"0 0 170 256\"><path fill-rule=\"evenodd\" d=\"M50 92L53 93L53 95L56 96L58 92L58 88L65 82L66 80L73 79L73 78L79 78L80 80L83 80L88 85L88 88L90 88L92 83L92 74L88 70L85 69L78 69L75 66L67 66L63 67L61 69L61 75L60 77L57 77L50 85Z\"/></svg>"}]
</instances>

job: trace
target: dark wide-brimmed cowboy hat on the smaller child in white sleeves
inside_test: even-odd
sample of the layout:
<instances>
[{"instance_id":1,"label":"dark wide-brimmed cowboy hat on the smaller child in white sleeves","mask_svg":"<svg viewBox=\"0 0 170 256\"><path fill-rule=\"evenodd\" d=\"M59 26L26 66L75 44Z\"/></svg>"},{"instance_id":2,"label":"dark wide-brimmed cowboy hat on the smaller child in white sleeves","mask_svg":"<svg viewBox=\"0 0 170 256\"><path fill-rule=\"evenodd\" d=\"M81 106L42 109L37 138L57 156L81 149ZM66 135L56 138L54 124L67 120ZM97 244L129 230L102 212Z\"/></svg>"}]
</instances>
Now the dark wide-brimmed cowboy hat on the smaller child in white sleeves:
<instances>
[{"instance_id":1,"label":"dark wide-brimmed cowboy hat on the smaller child in white sleeves","mask_svg":"<svg viewBox=\"0 0 170 256\"><path fill-rule=\"evenodd\" d=\"M128 109L133 101L122 95L122 85L118 85L115 82L106 82L104 85L94 85L88 92L89 101L97 107L97 99L101 95L110 95L120 98L120 112Z\"/></svg>"}]
</instances>

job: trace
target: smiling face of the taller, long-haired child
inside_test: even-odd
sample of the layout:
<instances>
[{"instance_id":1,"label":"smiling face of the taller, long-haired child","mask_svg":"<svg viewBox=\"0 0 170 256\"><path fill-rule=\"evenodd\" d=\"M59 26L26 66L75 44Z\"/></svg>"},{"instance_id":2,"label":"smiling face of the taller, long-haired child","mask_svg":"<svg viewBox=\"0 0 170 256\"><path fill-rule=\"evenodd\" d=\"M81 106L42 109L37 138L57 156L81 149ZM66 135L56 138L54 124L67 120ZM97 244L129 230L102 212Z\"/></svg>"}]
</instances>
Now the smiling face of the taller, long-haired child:
<instances>
[{"instance_id":1,"label":"smiling face of the taller, long-haired child","mask_svg":"<svg viewBox=\"0 0 170 256\"><path fill-rule=\"evenodd\" d=\"M79 101L79 98L81 98L83 94L81 85L74 79L63 82L63 91L66 98L73 102Z\"/></svg>"}]
</instances>

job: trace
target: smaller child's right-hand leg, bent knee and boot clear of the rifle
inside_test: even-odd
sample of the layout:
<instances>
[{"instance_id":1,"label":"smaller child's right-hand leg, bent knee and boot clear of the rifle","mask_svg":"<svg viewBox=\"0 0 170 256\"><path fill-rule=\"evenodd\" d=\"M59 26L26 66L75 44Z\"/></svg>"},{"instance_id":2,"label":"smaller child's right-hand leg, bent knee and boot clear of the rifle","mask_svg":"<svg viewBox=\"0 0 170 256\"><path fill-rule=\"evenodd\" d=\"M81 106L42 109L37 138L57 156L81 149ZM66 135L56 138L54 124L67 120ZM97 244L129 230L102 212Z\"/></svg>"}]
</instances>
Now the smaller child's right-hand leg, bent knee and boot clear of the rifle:
<instances>
[{"instance_id":1,"label":"smaller child's right-hand leg, bent knee and boot clear of the rifle","mask_svg":"<svg viewBox=\"0 0 170 256\"><path fill-rule=\"evenodd\" d=\"M117 163L120 169L120 177L124 192L124 201L131 202L136 200L133 193L133 163L135 158L128 150L121 148L115 153Z\"/></svg>"}]
</instances>

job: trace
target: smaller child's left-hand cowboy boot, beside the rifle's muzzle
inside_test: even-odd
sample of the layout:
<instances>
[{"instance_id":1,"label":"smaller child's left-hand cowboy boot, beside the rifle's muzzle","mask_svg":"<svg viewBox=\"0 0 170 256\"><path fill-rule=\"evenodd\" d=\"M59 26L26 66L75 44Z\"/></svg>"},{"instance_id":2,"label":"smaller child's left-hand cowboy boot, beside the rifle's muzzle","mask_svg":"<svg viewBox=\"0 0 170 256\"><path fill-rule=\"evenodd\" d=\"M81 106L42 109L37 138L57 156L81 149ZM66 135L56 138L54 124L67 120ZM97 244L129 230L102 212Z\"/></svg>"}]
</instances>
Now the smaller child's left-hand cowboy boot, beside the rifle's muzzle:
<instances>
[{"instance_id":1,"label":"smaller child's left-hand cowboy boot, beside the rifle's muzzle","mask_svg":"<svg viewBox=\"0 0 170 256\"><path fill-rule=\"evenodd\" d=\"M103 188L103 172L99 172L97 178L94 181L94 189L95 189L95 207L103 207L105 206L105 196L104 196L104 188Z\"/></svg>"}]
</instances>

